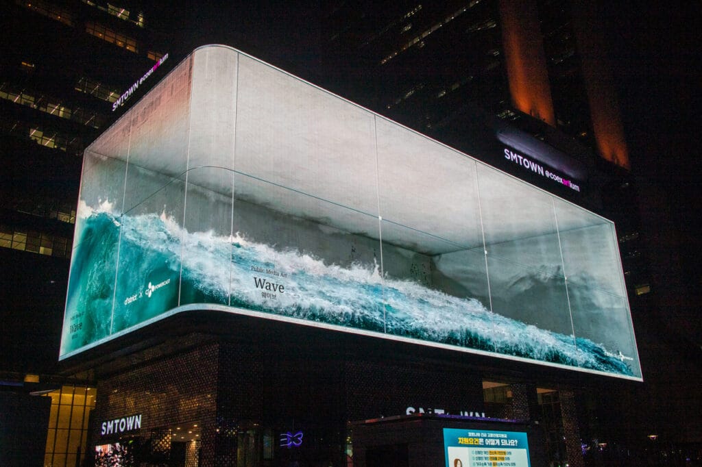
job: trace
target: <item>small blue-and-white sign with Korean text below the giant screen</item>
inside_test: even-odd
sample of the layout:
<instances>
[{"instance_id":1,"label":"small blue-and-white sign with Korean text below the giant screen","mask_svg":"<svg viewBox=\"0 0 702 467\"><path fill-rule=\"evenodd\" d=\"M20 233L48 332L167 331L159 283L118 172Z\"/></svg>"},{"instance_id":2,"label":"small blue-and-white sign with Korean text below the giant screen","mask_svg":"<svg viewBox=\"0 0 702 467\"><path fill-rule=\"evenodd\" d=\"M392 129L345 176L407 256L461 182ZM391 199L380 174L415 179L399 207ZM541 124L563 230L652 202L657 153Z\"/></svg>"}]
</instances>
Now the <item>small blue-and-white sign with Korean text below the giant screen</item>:
<instances>
[{"instance_id":1,"label":"small blue-and-white sign with Korean text below the giant screen","mask_svg":"<svg viewBox=\"0 0 702 467\"><path fill-rule=\"evenodd\" d=\"M446 467L530 467L527 433L444 428Z\"/></svg>"}]
</instances>

